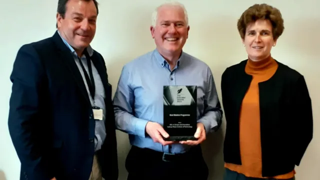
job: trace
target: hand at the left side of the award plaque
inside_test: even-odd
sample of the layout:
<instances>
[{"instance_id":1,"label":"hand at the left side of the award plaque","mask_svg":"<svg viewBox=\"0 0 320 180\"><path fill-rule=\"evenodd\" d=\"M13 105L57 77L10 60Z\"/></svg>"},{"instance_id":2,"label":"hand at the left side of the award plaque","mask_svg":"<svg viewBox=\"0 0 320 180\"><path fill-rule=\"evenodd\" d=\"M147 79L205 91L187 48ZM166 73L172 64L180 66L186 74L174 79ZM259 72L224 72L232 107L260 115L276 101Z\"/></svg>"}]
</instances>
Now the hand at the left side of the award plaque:
<instances>
[{"instance_id":1,"label":"hand at the left side of the award plaque","mask_svg":"<svg viewBox=\"0 0 320 180\"><path fill-rule=\"evenodd\" d=\"M162 145L168 145L174 143L173 141L164 141L162 136L167 138L169 134L163 129L163 127L156 123L148 121L145 125L145 131L150 135L154 142L159 142Z\"/></svg>"}]
</instances>

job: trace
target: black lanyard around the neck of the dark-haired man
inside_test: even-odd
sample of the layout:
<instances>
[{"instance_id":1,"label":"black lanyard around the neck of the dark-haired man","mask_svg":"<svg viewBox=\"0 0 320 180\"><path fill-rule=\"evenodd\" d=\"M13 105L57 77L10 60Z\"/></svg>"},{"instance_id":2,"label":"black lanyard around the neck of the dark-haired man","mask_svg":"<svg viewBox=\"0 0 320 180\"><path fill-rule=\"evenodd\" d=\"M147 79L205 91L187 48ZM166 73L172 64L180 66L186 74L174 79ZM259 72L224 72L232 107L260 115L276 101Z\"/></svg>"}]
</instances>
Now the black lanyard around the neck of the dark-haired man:
<instances>
[{"instance_id":1,"label":"black lanyard around the neck of the dark-haired man","mask_svg":"<svg viewBox=\"0 0 320 180\"><path fill-rule=\"evenodd\" d=\"M81 59L78 57L79 59L79 62L80 62L80 65L82 67L82 70L83 70L83 73L84 73L84 77L85 77L85 80L86 80L86 83L88 84L88 87L89 87L89 91L90 91L90 94L91 94L91 97L92 97L92 100L94 102L94 95L95 95L95 84L94 84L94 79L93 79L93 73L92 73L92 67L91 67L91 60L90 60L90 56L88 54L88 52L86 51L86 49L84 49L84 55L85 55L85 58L86 58L86 63L88 65L88 70L89 70L89 75L90 75L90 78L82 64L82 61ZM90 80L91 79L91 80Z\"/></svg>"}]
</instances>

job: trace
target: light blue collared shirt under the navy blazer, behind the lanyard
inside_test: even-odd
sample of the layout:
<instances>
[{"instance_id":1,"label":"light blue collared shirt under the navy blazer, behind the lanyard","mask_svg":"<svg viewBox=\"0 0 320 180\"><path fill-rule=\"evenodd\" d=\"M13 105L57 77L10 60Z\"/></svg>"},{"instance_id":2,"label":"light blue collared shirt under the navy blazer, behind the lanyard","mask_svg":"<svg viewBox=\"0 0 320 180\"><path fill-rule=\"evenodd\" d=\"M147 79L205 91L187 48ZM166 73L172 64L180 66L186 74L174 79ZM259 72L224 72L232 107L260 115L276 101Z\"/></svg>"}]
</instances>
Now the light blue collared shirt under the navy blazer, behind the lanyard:
<instances>
[{"instance_id":1,"label":"light blue collared shirt under the navy blazer, behind the lanyard","mask_svg":"<svg viewBox=\"0 0 320 180\"><path fill-rule=\"evenodd\" d=\"M59 33L59 31L58 31L58 33ZM59 33L59 35L60 35L60 33ZM61 37L61 35L60 35L60 37ZM96 70L96 68L94 67L94 64L91 60L92 74L93 74L93 79L94 79L94 84L95 84L95 95L94 95L94 101L93 101L91 94L90 94L90 91L89 91L89 88L88 88L88 85L85 80L85 76L84 76L82 67L79 63L78 55L76 54L76 52L72 48L72 46L65 39L63 39L62 37L61 37L61 39L63 40L65 45L70 49L70 52L74 58L74 61L77 65L77 67L79 68L79 71L80 71L81 76L83 78L83 82L86 87L91 105L97 106L97 107L101 108L103 111L102 120L95 120L94 150L97 151L101 148L101 145L106 137L106 131L105 131L105 125L104 125L104 123L105 123L105 104L104 104L105 92L104 92L104 87L103 87L100 75L99 75L98 71ZM92 47L89 45L86 49L87 49L89 56L92 56L92 54L93 54ZM86 73L89 74L85 55L83 54L80 59L81 59L82 64L86 70Z\"/></svg>"}]
</instances>

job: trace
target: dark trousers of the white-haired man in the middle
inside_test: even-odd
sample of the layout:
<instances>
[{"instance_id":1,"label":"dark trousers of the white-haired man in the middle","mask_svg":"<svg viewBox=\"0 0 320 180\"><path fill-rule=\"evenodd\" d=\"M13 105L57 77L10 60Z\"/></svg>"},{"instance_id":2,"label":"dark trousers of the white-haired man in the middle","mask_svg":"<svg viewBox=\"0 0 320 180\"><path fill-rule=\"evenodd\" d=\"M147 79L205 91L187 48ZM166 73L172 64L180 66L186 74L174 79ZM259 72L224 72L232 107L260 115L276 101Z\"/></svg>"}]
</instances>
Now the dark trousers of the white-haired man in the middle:
<instances>
[{"instance_id":1,"label":"dark trousers of the white-haired man in the middle","mask_svg":"<svg viewBox=\"0 0 320 180\"><path fill-rule=\"evenodd\" d=\"M207 180L208 168L201 147L194 146L183 155L164 156L163 152L132 146L125 160L127 180Z\"/></svg>"}]
</instances>

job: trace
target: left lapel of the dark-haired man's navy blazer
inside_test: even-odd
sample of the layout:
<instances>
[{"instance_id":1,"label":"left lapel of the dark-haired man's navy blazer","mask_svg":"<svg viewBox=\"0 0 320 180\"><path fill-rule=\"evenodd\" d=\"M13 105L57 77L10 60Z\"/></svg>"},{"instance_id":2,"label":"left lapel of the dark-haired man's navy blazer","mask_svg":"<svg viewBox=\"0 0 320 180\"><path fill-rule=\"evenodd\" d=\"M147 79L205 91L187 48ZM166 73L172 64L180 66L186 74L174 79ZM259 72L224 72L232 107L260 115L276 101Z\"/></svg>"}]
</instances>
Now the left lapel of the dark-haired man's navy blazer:
<instances>
[{"instance_id":1,"label":"left lapel of the dark-haired man's navy blazer","mask_svg":"<svg viewBox=\"0 0 320 180\"><path fill-rule=\"evenodd\" d=\"M80 91L82 92L83 97L88 102L88 104L91 105L87 90L83 82L83 78L80 74L79 68L75 64L72 54L70 53L70 49L64 44L57 31L54 33L52 38L58 48L58 56L68 66L72 76L74 77L74 80L76 81Z\"/></svg>"}]
</instances>

